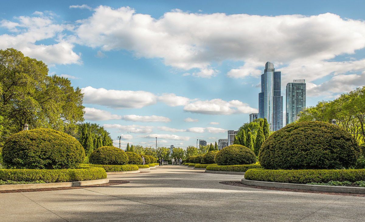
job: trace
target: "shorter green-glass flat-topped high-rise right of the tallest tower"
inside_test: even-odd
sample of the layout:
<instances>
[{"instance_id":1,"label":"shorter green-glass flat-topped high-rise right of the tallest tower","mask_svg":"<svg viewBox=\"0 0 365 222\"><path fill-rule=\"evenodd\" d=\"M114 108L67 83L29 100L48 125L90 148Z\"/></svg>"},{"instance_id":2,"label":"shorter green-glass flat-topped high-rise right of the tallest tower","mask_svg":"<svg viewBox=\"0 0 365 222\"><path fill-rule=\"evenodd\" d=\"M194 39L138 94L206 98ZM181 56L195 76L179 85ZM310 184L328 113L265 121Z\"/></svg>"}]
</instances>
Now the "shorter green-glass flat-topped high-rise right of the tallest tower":
<instances>
[{"instance_id":1,"label":"shorter green-glass flat-topped high-rise right of the tallest tower","mask_svg":"<svg viewBox=\"0 0 365 222\"><path fill-rule=\"evenodd\" d=\"M298 114L306 108L306 80L294 79L287 84L286 123L298 120Z\"/></svg>"}]
</instances>

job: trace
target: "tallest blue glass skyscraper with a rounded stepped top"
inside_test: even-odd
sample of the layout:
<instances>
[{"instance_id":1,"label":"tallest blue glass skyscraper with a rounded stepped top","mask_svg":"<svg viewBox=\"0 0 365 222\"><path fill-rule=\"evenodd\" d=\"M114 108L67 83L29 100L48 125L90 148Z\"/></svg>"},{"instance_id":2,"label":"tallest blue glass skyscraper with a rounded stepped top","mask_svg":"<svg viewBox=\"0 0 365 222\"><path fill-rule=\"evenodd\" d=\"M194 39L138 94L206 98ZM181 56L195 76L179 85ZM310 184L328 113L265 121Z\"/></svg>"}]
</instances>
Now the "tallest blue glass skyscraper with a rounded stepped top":
<instances>
[{"instance_id":1,"label":"tallest blue glass skyscraper with a rounded stepped top","mask_svg":"<svg viewBox=\"0 0 365 222\"><path fill-rule=\"evenodd\" d=\"M266 118L271 131L283 128L283 96L281 96L281 72L274 64L266 62L261 75L261 93L258 94L258 118Z\"/></svg>"}]
</instances>

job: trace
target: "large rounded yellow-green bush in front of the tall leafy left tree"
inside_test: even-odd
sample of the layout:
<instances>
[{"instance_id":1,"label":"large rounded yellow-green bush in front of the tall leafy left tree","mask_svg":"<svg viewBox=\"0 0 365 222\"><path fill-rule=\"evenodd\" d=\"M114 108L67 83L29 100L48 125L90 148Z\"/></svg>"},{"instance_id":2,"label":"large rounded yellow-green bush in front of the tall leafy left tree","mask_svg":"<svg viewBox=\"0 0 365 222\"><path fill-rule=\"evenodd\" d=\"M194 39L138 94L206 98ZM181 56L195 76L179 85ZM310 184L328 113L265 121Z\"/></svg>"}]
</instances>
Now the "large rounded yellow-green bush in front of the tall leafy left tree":
<instances>
[{"instance_id":1,"label":"large rounded yellow-green bush in front of the tall leafy left tree","mask_svg":"<svg viewBox=\"0 0 365 222\"><path fill-rule=\"evenodd\" d=\"M69 169L85 158L81 144L72 136L53 129L15 133L5 141L3 163L15 169Z\"/></svg>"}]
</instances>

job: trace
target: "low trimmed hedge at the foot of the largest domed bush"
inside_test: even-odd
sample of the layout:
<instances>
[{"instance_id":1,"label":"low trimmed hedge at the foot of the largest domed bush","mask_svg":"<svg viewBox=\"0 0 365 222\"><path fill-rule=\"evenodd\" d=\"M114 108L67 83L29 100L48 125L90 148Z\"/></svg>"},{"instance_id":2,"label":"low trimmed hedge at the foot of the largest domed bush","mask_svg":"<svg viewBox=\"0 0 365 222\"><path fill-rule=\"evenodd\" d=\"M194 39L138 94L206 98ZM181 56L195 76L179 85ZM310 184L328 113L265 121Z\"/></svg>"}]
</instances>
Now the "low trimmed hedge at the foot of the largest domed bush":
<instances>
[{"instance_id":1,"label":"low trimmed hedge at the foot of the largest domed bush","mask_svg":"<svg viewBox=\"0 0 365 222\"><path fill-rule=\"evenodd\" d=\"M365 180L365 169L358 170L264 170L250 169L245 179L280 183L327 183Z\"/></svg>"}]
</instances>

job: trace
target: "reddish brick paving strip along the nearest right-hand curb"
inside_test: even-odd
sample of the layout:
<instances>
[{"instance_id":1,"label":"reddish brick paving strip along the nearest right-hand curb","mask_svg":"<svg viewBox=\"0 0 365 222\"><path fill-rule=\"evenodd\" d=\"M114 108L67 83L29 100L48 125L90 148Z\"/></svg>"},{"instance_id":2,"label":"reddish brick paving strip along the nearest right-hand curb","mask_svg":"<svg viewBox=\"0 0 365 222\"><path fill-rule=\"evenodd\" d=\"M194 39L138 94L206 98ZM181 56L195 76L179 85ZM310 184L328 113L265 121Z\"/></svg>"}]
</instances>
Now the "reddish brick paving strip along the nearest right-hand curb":
<instances>
[{"instance_id":1,"label":"reddish brick paving strip along the nearest right-hand curb","mask_svg":"<svg viewBox=\"0 0 365 222\"><path fill-rule=\"evenodd\" d=\"M348 194L348 193L336 193L336 192L326 192L326 191L314 191L314 190L299 190L299 189L287 189L287 188L276 188L276 187L261 187L261 186L253 186L253 185L246 185L241 183L241 180L236 181L224 181L219 182L221 184L237 186L237 187L249 187L249 188L256 188L262 190L278 190L278 191L290 191L290 192L300 192L300 193L310 193L310 194L327 194L327 195L341 195L341 196L360 196L365 197L365 194Z\"/></svg>"}]
</instances>

